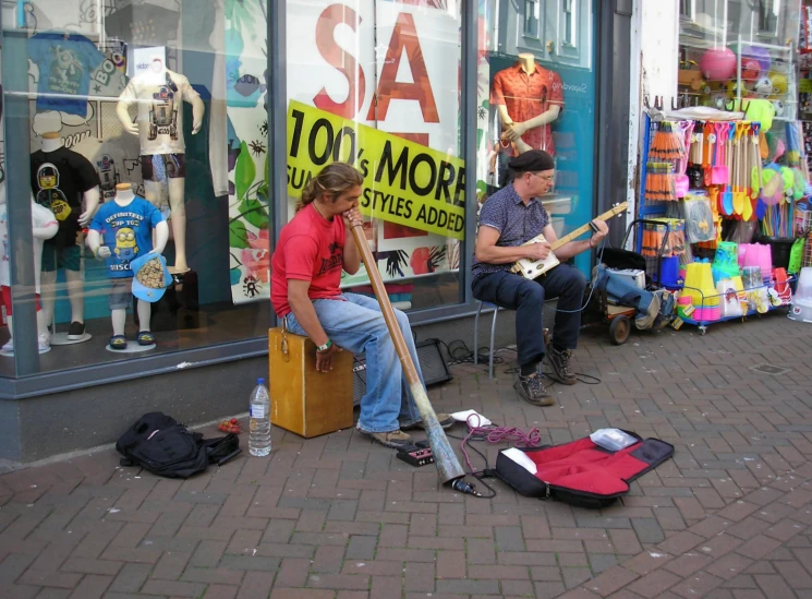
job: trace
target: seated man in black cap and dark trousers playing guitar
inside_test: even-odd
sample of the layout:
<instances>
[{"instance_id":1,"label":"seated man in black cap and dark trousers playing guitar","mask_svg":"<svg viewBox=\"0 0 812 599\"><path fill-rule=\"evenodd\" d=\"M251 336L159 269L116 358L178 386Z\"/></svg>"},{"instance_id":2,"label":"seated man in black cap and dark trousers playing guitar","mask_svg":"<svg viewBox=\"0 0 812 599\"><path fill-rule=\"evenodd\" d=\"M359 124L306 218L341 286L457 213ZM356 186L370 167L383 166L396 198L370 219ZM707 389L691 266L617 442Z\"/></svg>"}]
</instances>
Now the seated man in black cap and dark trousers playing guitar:
<instances>
[{"instance_id":1,"label":"seated man in black cap and dark trousers playing guitar","mask_svg":"<svg viewBox=\"0 0 812 599\"><path fill-rule=\"evenodd\" d=\"M488 197L480 212L472 290L478 300L517 311L520 372L513 388L530 404L552 406L555 402L542 384L538 364L546 355L554 379L566 385L575 384L570 357L578 345L586 278L567 264L535 279L510 272L519 260L547 257L550 243L558 237L540 200L553 187L553 157L542 149L530 149L511 158L508 168L512 181ZM556 256L563 262L595 248L609 228L604 221L594 223L597 230L589 239L570 241L556 250ZM523 245L540 233L544 233L546 242ZM544 300L555 297L555 338L552 347L545 348L542 311Z\"/></svg>"}]
</instances>

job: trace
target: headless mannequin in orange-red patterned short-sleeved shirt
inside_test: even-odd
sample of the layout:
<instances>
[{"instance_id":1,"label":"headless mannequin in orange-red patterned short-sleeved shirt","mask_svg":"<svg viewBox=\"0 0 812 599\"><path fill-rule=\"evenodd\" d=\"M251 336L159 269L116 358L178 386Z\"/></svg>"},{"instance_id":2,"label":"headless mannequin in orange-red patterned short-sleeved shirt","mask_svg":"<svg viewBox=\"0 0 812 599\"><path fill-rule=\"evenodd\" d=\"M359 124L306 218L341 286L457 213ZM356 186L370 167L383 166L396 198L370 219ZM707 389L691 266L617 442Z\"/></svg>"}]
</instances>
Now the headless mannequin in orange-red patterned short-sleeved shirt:
<instances>
[{"instance_id":1,"label":"headless mannequin in orange-red patterned short-sleeved shirt","mask_svg":"<svg viewBox=\"0 0 812 599\"><path fill-rule=\"evenodd\" d=\"M538 65L532 53L521 53L512 67L494 75L490 104L499 113L504 146L521 137L531 148L555 155L550 123L563 108L563 84L557 73Z\"/></svg>"}]
</instances>

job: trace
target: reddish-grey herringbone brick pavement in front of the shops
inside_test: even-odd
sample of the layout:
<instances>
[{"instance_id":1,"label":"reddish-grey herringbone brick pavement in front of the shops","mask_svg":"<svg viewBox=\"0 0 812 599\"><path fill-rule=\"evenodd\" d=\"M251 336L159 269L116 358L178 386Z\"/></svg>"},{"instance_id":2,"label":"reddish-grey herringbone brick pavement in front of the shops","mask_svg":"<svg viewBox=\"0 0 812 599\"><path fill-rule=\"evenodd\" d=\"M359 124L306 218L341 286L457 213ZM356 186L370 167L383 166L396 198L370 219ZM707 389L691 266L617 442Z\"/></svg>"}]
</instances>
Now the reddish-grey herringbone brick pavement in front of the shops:
<instances>
[{"instance_id":1,"label":"reddish-grey herringbone brick pavement in front of the shops","mask_svg":"<svg viewBox=\"0 0 812 599\"><path fill-rule=\"evenodd\" d=\"M0 476L0 598L810 597L811 356L812 327L779 314L622 347L596 328L575 366L603 383L556 386L555 407L520 403L509 364L496 382L457 366L431 390L438 411L545 442L615 426L675 444L599 512L499 482L493 500L462 496L352 431L275 430L270 459L186 481L109 450L15 470ZM791 370L750 370L764 362Z\"/></svg>"}]
</instances>

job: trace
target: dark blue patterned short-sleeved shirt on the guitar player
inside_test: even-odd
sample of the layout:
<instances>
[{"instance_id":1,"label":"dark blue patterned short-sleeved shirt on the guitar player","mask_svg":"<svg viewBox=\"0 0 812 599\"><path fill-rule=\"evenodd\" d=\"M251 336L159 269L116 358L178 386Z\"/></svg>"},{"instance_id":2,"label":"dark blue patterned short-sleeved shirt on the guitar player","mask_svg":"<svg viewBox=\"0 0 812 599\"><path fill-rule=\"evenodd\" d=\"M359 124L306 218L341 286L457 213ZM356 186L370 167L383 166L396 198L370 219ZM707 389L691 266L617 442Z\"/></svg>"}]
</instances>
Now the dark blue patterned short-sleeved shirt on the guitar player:
<instances>
[{"instance_id":1,"label":"dark blue patterned short-sleeved shirt on the guitar player","mask_svg":"<svg viewBox=\"0 0 812 599\"><path fill-rule=\"evenodd\" d=\"M492 227L499 231L499 240L496 242L498 248L516 248L526 243L538 236L547 225L549 225L549 215L544 209L541 200L533 197L524 205L512 183L488 197L480 211L480 226ZM474 255L471 267L472 284L484 275L508 271L512 266L512 263L478 262Z\"/></svg>"}]
</instances>

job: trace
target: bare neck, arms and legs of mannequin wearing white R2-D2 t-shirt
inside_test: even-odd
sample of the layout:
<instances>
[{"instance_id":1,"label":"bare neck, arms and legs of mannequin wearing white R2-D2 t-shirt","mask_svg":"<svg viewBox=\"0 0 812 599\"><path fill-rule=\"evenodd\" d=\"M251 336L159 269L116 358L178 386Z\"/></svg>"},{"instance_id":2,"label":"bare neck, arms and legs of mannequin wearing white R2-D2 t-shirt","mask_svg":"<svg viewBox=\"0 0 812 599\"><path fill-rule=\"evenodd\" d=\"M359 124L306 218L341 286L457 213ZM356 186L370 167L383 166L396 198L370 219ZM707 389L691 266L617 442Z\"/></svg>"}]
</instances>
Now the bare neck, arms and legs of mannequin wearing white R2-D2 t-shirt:
<instances>
[{"instance_id":1,"label":"bare neck, arms and legs of mannequin wearing white R2-D2 t-shirt","mask_svg":"<svg viewBox=\"0 0 812 599\"><path fill-rule=\"evenodd\" d=\"M166 81L167 69L163 65L163 61L160 58L153 58L153 62L149 64L149 69L138 74L138 77L144 77L144 81L148 84L160 85ZM181 98L175 98L175 101L181 101ZM192 105L192 135L203 127L203 116L206 111L206 107L199 97L195 97L190 101ZM134 123L130 117L129 104L119 101L116 106L116 113L124 127L124 131L132 135L138 135L138 124ZM144 123L143 127L148 127ZM182 135L182 132L180 133ZM174 266L170 267L172 273L185 273L189 271L189 264L186 262L186 206L184 202L184 189L185 178L175 177L168 178L169 188L169 207L172 211L170 220L172 223L172 238L174 239ZM144 195L154 206L160 207L160 201L162 196L163 184L161 181L144 181Z\"/></svg>"}]
</instances>

